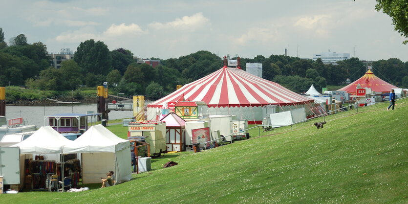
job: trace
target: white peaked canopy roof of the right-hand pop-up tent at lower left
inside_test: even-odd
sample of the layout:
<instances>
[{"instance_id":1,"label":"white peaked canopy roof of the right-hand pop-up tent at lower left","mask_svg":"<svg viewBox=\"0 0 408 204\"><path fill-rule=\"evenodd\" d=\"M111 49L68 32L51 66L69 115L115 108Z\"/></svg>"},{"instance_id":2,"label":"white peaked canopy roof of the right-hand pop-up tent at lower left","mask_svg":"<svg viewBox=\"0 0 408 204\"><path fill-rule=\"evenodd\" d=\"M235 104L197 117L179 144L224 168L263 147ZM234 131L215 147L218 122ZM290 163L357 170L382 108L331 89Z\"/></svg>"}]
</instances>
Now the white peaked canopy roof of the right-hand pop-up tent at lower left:
<instances>
[{"instance_id":1,"label":"white peaked canopy roof of the right-hand pop-up tent at lower left","mask_svg":"<svg viewBox=\"0 0 408 204\"><path fill-rule=\"evenodd\" d=\"M122 139L101 124L91 126L82 136L75 139L71 144L64 146L64 154L68 153L115 153L129 148L130 143ZM130 153L129 153L130 154Z\"/></svg>"}]
</instances>

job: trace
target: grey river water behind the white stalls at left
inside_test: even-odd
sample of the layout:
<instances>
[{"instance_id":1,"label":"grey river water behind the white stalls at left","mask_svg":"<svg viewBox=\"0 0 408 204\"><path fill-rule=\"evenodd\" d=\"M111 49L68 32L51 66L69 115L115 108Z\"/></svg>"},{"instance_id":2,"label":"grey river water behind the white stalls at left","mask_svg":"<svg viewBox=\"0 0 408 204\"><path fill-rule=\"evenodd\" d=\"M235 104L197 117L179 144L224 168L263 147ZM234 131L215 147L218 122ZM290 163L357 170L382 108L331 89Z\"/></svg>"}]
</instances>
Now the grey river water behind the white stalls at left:
<instances>
[{"instance_id":1,"label":"grey river water behind the white stalls at left","mask_svg":"<svg viewBox=\"0 0 408 204\"><path fill-rule=\"evenodd\" d=\"M83 113L94 111L98 113L97 104L80 104L74 106L6 106L6 118L22 117L25 124L37 125L37 128L44 126L44 115L61 113ZM72 111L73 110L73 111ZM132 111L110 111L109 120L131 118ZM90 118L88 118L90 122Z\"/></svg>"}]
</instances>

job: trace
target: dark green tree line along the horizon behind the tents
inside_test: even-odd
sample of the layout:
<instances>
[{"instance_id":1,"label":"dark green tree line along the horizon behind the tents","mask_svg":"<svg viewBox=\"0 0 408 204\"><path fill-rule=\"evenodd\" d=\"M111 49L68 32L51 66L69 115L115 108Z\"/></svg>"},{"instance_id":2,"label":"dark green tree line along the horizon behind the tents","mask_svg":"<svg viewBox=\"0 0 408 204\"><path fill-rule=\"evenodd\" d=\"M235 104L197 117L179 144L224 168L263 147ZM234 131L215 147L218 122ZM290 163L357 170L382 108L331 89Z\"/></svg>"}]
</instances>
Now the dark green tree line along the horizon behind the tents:
<instances>
[{"instance_id":1,"label":"dark green tree line along the horizon behind the tents","mask_svg":"<svg viewBox=\"0 0 408 204\"><path fill-rule=\"evenodd\" d=\"M80 86L95 87L108 82L109 89L127 95L146 95L159 98L175 90L176 85L187 84L216 71L223 66L222 59L209 51L197 51L179 58L160 59L158 67L137 64L133 53L126 48L109 50L107 45L93 39L82 42L72 60L61 63L61 68L50 66L46 45L28 44L23 34L4 42L0 28L0 86L25 86L36 90L67 91ZM232 58L236 59L236 58ZM327 85L341 86L347 78L353 82L366 71L365 62L351 58L323 64L318 59L305 60L284 55L240 58L245 63L262 63L262 78L295 91L304 92L313 84L317 90ZM372 62L374 74L398 87L408 87L408 62L391 58Z\"/></svg>"}]
</instances>

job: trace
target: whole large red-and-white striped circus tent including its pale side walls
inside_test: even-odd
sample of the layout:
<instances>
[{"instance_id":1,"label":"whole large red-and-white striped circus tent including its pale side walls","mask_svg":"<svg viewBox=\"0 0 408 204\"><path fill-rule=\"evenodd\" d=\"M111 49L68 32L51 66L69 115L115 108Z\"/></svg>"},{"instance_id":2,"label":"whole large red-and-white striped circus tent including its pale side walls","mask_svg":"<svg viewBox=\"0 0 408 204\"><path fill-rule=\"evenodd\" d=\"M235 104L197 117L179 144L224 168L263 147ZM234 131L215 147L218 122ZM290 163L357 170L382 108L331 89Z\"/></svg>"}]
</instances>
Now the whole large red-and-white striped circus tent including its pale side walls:
<instances>
[{"instance_id":1,"label":"whole large red-and-white striped circus tent including its pale side walls","mask_svg":"<svg viewBox=\"0 0 408 204\"><path fill-rule=\"evenodd\" d=\"M185 101L204 101L208 109L202 114L236 115L237 119L247 119L249 124L261 124L262 106L265 105L277 105L277 113L304 107L306 115L314 114L311 111L313 99L240 68L224 66L150 103L148 119L156 117L157 108L166 109L183 97Z\"/></svg>"}]
</instances>

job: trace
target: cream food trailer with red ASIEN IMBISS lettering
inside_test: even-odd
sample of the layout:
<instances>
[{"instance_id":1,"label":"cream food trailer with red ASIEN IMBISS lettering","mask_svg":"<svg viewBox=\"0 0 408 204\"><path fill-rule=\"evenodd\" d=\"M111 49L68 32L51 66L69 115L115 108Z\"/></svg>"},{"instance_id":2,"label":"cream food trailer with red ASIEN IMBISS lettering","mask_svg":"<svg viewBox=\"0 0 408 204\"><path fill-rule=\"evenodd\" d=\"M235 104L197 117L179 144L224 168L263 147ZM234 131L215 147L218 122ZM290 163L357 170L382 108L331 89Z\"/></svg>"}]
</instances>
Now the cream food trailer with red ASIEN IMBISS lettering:
<instances>
[{"instance_id":1,"label":"cream food trailer with red ASIEN IMBISS lettering","mask_svg":"<svg viewBox=\"0 0 408 204\"><path fill-rule=\"evenodd\" d=\"M150 154L159 156L167 152L165 122L130 122L128 137L144 137L150 144Z\"/></svg>"}]
</instances>

